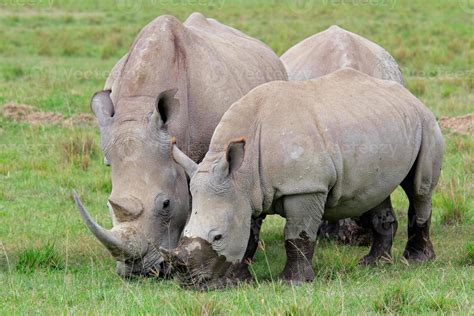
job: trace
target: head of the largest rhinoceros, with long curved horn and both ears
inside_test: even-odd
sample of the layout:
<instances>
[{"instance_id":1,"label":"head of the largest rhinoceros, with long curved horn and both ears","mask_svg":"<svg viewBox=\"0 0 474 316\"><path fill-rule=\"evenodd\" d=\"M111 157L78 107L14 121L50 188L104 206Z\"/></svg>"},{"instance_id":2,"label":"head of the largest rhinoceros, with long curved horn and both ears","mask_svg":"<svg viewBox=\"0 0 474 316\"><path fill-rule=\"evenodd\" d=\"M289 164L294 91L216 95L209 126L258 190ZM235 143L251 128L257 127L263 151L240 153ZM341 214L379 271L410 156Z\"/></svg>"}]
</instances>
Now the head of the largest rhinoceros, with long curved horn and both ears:
<instances>
[{"instance_id":1,"label":"head of the largest rhinoceros, with long curved horn and both ears","mask_svg":"<svg viewBox=\"0 0 474 316\"><path fill-rule=\"evenodd\" d=\"M129 103L121 106L127 109L124 113L114 112L110 91L92 98L105 160L112 168L107 205L113 228L99 226L77 195L75 199L86 225L116 258L117 273L124 277L168 273L158 248L177 245L189 213L187 179L176 160L182 165L193 162L177 149L167 130L179 107L175 93L121 99Z\"/></svg>"}]
</instances>

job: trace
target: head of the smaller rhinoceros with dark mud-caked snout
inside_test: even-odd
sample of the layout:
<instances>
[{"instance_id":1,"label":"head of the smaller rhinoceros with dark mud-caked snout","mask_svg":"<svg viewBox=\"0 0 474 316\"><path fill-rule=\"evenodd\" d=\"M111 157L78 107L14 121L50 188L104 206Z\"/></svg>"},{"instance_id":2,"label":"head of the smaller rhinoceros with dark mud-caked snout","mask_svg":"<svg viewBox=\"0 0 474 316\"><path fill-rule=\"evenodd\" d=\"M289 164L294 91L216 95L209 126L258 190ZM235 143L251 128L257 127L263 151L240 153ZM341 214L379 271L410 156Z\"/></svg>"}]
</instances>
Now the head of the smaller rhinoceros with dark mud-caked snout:
<instances>
[{"instance_id":1,"label":"head of the smaller rhinoceros with dark mud-caked snout","mask_svg":"<svg viewBox=\"0 0 474 316\"><path fill-rule=\"evenodd\" d=\"M191 180L192 213L179 246L162 250L181 272L182 283L197 288L225 284L245 253L252 202L245 174L235 176L244 160L245 142L209 152ZM224 282L224 283L223 283Z\"/></svg>"}]
</instances>

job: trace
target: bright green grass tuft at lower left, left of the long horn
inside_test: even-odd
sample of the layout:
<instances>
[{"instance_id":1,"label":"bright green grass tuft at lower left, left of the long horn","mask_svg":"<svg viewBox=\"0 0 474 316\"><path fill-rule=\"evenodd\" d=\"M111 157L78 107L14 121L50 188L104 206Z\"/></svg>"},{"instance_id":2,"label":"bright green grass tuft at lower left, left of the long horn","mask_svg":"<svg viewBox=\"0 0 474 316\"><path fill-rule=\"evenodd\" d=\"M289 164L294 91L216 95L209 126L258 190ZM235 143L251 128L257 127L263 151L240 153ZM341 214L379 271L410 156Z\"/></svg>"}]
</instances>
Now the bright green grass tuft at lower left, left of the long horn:
<instances>
[{"instance_id":1,"label":"bright green grass tuft at lower left, left of the long horn","mask_svg":"<svg viewBox=\"0 0 474 316\"><path fill-rule=\"evenodd\" d=\"M47 243L40 248L23 250L16 264L16 270L23 273L32 273L37 270L57 271L63 268L64 262L53 243Z\"/></svg>"}]
</instances>

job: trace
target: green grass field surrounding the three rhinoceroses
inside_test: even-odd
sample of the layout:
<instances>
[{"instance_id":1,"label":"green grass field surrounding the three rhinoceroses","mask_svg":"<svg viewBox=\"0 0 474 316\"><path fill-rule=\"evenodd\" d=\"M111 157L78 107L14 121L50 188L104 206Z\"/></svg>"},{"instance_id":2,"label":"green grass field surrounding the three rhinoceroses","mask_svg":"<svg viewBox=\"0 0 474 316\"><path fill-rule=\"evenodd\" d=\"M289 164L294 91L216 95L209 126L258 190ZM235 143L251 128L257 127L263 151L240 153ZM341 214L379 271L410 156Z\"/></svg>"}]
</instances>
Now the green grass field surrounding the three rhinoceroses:
<instances>
[{"instance_id":1,"label":"green grass field surrounding the three rhinoceroses","mask_svg":"<svg viewBox=\"0 0 474 316\"><path fill-rule=\"evenodd\" d=\"M474 313L474 139L444 130L443 173L433 200L438 259L408 266L407 201L395 262L363 268L368 249L319 242L312 284L278 280L283 221L265 222L252 265L256 282L198 293L173 281L115 274L114 261L80 220L71 189L99 223L111 190L94 124L61 122L89 113L91 95L155 16L200 11L259 38L278 54L338 24L381 44L409 89L437 117L474 112L474 7L469 0L0 0L0 107L27 104L51 123L0 117L0 314L362 314ZM4 112L4 110L3 110ZM20 113L21 114L21 113ZM21 115L17 116L20 117ZM56 122L56 123L54 123Z\"/></svg>"}]
</instances>

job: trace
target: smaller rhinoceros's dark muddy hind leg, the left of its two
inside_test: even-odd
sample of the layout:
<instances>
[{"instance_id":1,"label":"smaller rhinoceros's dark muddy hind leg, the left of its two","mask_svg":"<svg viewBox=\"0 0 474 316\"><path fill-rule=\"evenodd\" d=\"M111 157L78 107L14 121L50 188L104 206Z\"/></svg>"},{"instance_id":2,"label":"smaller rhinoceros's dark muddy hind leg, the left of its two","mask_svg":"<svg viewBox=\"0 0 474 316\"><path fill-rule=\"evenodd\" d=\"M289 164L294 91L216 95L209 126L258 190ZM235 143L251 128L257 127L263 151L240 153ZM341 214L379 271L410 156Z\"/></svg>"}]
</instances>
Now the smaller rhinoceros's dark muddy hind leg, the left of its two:
<instances>
[{"instance_id":1,"label":"smaller rhinoceros's dark muddy hind leg, the left of its two","mask_svg":"<svg viewBox=\"0 0 474 316\"><path fill-rule=\"evenodd\" d=\"M361 221L372 230L372 245L369 254L363 257L359 264L373 265L379 261L392 262L393 237L397 232L398 223L390 196L362 215Z\"/></svg>"}]
</instances>

